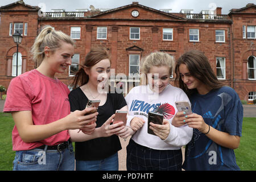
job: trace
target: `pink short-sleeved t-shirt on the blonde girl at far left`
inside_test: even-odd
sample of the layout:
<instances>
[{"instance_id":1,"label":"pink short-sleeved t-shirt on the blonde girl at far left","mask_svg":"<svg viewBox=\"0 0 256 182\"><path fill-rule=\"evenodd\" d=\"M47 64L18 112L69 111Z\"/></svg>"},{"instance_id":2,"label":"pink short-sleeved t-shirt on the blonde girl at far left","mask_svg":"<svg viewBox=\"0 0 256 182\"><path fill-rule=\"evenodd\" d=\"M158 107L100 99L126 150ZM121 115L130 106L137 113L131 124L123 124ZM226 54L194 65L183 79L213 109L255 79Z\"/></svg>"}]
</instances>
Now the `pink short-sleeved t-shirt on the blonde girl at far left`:
<instances>
[{"instance_id":1,"label":"pink short-sleeved t-shirt on the blonde girl at far left","mask_svg":"<svg viewBox=\"0 0 256 182\"><path fill-rule=\"evenodd\" d=\"M3 111L31 110L34 125L46 125L70 113L68 94L69 89L63 82L33 69L11 80ZM43 144L53 146L68 139L68 130L65 130L38 142L25 143L14 126L13 150L31 150Z\"/></svg>"}]
</instances>

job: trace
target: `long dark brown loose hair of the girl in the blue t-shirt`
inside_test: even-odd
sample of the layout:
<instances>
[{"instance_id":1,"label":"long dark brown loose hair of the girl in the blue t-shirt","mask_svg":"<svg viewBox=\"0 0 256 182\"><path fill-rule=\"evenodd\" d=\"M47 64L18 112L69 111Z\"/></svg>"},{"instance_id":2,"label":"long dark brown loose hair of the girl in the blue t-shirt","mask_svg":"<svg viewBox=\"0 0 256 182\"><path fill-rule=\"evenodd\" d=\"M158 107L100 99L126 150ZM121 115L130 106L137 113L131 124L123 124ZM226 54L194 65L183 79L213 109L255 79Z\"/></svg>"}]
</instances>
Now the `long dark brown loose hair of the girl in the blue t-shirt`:
<instances>
[{"instance_id":1,"label":"long dark brown loose hair of the girl in the blue t-shirt","mask_svg":"<svg viewBox=\"0 0 256 182\"><path fill-rule=\"evenodd\" d=\"M179 66L181 64L187 65L191 76L197 78L197 80L203 82L211 89L218 89L221 88L221 86L224 86L224 84L217 79L212 67L210 67L209 60L203 52L196 50L188 51L179 57L175 67L176 84L179 88L183 89L188 96L191 96L191 94L195 93L197 90L188 89L187 85L184 84L179 73Z\"/></svg>"}]
</instances>

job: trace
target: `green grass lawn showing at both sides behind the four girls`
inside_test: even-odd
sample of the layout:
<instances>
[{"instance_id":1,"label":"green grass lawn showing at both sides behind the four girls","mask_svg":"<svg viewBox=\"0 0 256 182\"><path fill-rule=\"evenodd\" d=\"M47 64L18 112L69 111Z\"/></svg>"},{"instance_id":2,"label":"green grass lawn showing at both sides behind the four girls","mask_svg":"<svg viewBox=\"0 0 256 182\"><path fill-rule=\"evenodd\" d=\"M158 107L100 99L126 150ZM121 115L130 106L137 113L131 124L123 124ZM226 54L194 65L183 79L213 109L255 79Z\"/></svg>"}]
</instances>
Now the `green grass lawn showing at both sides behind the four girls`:
<instances>
[{"instance_id":1,"label":"green grass lawn showing at both sides behind the four girls","mask_svg":"<svg viewBox=\"0 0 256 182\"><path fill-rule=\"evenodd\" d=\"M0 171L13 169L15 152L11 142L14 122L11 114L0 113ZM234 150L242 171L256 170L256 118L243 118L240 146Z\"/></svg>"}]
</instances>

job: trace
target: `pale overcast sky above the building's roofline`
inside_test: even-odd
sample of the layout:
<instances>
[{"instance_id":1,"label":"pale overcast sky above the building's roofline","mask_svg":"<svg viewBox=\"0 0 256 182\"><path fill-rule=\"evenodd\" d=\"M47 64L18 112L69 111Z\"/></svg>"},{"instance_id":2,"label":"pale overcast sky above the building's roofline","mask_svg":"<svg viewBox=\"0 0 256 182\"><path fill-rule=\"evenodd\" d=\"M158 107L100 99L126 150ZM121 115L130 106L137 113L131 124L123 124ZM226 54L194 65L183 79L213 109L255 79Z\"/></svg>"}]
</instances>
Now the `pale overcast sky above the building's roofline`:
<instances>
[{"instance_id":1,"label":"pale overcast sky above the building's roofline","mask_svg":"<svg viewBox=\"0 0 256 182\"><path fill-rule=\"evenodd\" d=\"M1 0L0 6L9 5L17 0ZM27 5L39 6L43 12L51 9L65 9L75 11L75 9L89 9L93 5L96 9L114 9L125 5L130 5L136 0L24 0ZM172 13L179 13L181 9L193 9L193 13L200 13L201 10L214 10L222 7L222 14L228 14L231 9L240 9L247 3L256 4L256 0L138 0L140 5L153 9L172 9Z\"/></svg>"}]
</instances>

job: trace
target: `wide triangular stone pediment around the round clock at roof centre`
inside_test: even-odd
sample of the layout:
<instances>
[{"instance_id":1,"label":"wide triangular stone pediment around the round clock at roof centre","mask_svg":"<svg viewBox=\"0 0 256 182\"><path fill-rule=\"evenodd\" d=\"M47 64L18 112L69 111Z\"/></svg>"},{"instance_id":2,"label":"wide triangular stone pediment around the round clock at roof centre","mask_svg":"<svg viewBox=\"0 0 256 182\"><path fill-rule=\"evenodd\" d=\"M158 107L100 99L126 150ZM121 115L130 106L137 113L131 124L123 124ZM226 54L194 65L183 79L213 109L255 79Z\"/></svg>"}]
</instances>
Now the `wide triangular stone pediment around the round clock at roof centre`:
<instances>
[{"instance_id":1,"label":"wide triangular stone pediment around the round clock at roof centre","mask_svg":"<svg viewBox=\"0 0 256 182\"><path fill-rule=\"evenodd\" d=\"M131 12L137 10L138 16L134 17ZM164 13L163 11L155 10L147 6L139 5L138 3L133 3L131 5L126 5L118 7L116 9L111 9L98 13L96 15L91 15L88 18L101 18L101 19L133 19L133 20L184 20L180 16Z\"/></svg>"}]
</instances>

